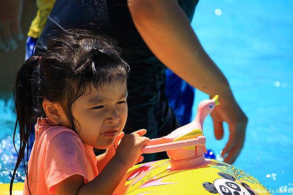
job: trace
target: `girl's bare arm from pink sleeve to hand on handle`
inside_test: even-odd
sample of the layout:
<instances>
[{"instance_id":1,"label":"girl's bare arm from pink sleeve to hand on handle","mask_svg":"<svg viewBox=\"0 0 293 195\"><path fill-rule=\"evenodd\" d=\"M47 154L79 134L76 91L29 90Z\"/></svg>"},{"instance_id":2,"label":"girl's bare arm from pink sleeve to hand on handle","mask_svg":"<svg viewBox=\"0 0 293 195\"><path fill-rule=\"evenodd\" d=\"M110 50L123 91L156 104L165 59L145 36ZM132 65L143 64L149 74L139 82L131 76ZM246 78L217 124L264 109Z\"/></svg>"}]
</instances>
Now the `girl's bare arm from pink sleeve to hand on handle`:
<instances>
[{"instance_id":1,"label":"girl's bare arm from pink sleeve to hand on handle","mask_svg":"<svg viewBox=\"0 0 293 195\"><path fill-rule=\"evenodd\" d=\"M141 137L146 130L125 135L116 154L92 181L84 184L84 177L73 175L55 186L56 195L112 195L127 170L140 158L141 149L149 139Z\"/></svg>"}]
</instances>

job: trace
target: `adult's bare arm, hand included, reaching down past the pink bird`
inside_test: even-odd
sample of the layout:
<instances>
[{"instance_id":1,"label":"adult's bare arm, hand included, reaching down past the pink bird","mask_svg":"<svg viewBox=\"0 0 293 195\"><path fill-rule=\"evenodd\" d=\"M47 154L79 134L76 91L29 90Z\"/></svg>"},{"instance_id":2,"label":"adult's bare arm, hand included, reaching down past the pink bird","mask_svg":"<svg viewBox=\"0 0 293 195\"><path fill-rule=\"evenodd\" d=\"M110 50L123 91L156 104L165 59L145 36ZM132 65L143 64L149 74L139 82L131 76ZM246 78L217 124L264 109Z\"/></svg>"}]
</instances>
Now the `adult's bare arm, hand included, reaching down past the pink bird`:
<instances>
[{"instance_id":1,"label":"adult's bare arm, hand included, reaching down past the pink bird","mask_svg":"<svg viewBox=\"0 0 293 195\"><path fill-rule=\"evenodd\" d=\"M232 163L243 147L247 117L235 101L227 79L201 46L177 0L127 3L137 30L154 55L193 87L211 97L219 95L221 105L211 117L217 139L223 137L223 121L229 124L230 137L222 156Z\"/></svg>"}]
</instances>

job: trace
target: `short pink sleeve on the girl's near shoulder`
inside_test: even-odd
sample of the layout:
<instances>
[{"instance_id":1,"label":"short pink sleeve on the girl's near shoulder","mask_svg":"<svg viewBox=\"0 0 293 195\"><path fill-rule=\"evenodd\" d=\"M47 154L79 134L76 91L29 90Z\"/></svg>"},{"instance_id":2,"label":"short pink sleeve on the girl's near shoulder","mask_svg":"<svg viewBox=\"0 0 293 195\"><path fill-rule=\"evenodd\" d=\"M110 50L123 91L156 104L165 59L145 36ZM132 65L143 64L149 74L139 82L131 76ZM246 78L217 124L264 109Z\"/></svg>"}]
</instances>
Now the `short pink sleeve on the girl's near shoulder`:
<instances>
[{"instance_id":1,"label":"short pink sleeve on the girl's near shoulder","mask_svg":"<svg viewBox=\"0 0 293 195\"><path fill-rule=\"evenodd\" d=\"M48 138L44 160L44 178L48 191L64 179L81 175L85 180L86 164L82 140L72 130L55 133Z\"/></svg>"}]
</instances>

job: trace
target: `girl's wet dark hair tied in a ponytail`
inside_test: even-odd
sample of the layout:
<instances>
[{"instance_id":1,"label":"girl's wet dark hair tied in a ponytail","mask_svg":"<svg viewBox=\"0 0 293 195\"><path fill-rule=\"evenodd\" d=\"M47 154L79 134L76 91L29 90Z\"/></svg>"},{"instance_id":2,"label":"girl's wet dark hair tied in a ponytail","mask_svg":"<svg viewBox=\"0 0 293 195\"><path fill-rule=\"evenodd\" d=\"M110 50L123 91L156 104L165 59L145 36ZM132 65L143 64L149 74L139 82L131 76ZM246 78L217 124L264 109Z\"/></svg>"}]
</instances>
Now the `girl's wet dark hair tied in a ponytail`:
<instances>
[{"instance_id":1,"label":"girl's wet dark hair tied in a ponytail","mask_svg":"<svg viewBox=\"0 0 293 195\"><path fill-rule=\"evenodd\" d=\"M10 194L21 161L27 178L28 148L32 144L28 140L37 118L46 117L43 99L61 104L71 128L78 133L71 110L74 101L85 95L89 86L100 90L112 78L126 81L128 72L128 65L110 39L81 29L68 30L57 39L51 39L42 57L33 56L23 62L14 85L17 119L13 140L15 142L19 126L20 148L17 151L14 144L18 159L10 182Z\"/></svg>"}]
</instances>

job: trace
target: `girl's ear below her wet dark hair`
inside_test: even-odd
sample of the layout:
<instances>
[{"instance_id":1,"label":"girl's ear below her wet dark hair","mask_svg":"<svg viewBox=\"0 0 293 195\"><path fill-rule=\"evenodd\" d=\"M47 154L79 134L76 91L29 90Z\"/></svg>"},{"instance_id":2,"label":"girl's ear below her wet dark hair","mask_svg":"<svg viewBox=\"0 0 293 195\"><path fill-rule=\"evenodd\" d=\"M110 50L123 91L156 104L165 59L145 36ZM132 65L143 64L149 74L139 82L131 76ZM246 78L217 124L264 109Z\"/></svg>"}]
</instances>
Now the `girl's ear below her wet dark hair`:
<instances>
[{"instance_id":1,"label":"girl's ear below her wet dark hair","mask_svg":"<svg viewBox=\"0 0 293 195\"><path fill-rule=\"evenodd\" d=\"M42 107L45 111L46 116L54 122L54 124L62 124L63 123L63 109L60 104L49 101L48 99L44 99L42 102Z\"/></svg>"}]
</instances>

